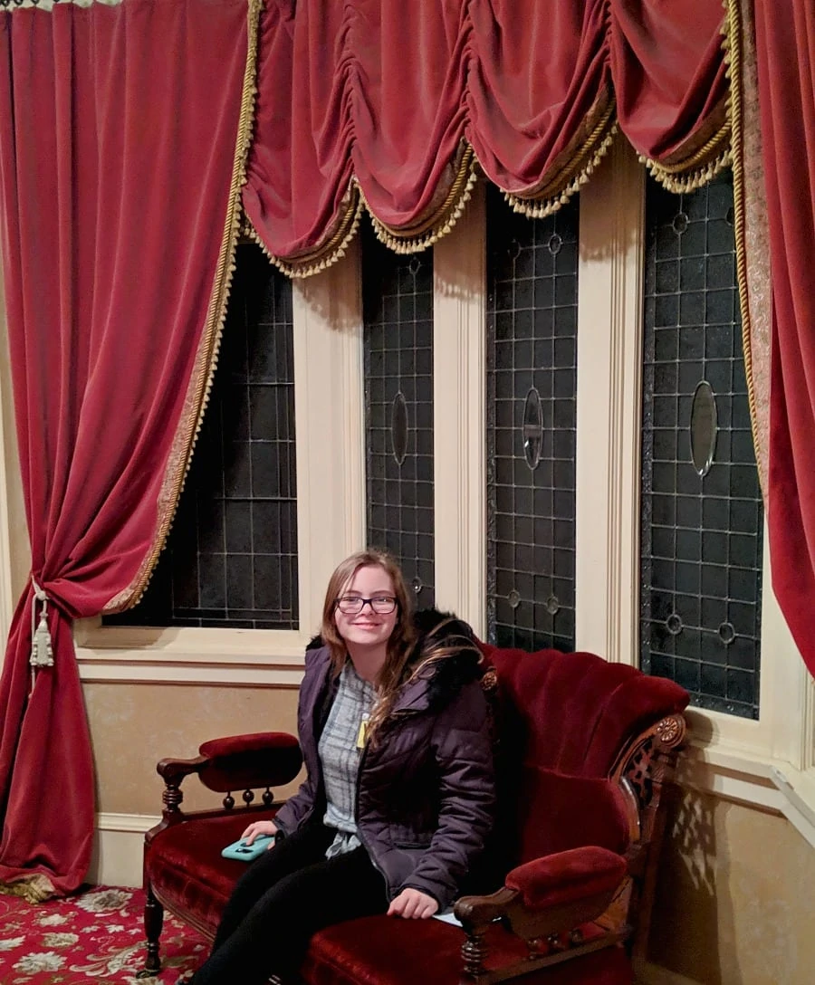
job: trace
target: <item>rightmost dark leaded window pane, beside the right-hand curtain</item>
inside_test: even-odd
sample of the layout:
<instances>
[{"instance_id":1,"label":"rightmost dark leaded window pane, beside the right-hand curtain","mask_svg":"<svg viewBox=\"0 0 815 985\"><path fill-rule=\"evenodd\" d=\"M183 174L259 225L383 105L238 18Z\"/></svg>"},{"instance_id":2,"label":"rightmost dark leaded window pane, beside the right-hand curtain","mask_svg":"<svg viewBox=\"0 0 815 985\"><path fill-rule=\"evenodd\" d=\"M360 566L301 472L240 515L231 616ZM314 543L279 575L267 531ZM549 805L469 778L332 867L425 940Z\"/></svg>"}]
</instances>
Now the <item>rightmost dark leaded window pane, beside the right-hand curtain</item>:
<instances>
[{"instance_id":1,"label":"rightmost dark leaded window pane, beside the right-hand curtain","mask_svg":"<svg viewBox=\"0 0 815 985\"><path fill-rule=\"evenodd\" d=\"M679 196L648 183L641 665L699 707L757 718L763 513L730 206L729 175ZM705 475L689 432L702 380L716 421Z\"/></svg>"}]
</instances>

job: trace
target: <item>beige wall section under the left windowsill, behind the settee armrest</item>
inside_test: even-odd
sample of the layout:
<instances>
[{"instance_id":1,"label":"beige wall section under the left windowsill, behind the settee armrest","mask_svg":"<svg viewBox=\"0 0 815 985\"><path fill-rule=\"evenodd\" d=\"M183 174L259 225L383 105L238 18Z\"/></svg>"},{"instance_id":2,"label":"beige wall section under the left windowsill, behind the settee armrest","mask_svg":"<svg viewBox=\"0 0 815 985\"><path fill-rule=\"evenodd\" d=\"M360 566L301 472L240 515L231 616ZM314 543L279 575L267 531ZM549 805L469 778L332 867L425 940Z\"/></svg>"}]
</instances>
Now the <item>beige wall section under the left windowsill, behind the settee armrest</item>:
<instances>
[{"instance_id":1,"label":"beige wall section under the left windowsill, behind the settee armrest","mask_svg":"<svg viewBox=\"0 0 815 985\"><path fill-rule=\"evenodd\" d=\"M159 815L164 783L156 763L190 758L208 739L250 732L297 733L296 689L86 684L85 703L100 813ZM276 795L288 796L297 784ZM194 777L182 786L185 808L220 806Z\"/></svg>"}]
</instances>

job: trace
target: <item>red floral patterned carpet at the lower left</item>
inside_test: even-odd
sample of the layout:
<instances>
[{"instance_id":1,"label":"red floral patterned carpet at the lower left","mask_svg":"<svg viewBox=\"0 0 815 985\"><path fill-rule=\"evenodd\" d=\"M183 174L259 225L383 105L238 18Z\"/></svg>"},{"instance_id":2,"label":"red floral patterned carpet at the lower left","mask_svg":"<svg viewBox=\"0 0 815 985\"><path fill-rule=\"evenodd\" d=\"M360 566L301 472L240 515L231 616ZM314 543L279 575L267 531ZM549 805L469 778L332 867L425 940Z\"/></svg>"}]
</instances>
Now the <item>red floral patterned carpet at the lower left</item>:
<instances>
[{"instance_id":1,"label":"red floral patterned carpet at the lower left","mask_svg":"<svg viewBox=\"0 0 815 985\"><path fill-rule=\"evenodd\" d=\"M166 914L162 971L136 978L144 967L143 913L142 889L91 886L67 899L35 904L0 895L0 982L175 985L182 972L201 963L207 942Z\"/></svg>"}]
</instances>

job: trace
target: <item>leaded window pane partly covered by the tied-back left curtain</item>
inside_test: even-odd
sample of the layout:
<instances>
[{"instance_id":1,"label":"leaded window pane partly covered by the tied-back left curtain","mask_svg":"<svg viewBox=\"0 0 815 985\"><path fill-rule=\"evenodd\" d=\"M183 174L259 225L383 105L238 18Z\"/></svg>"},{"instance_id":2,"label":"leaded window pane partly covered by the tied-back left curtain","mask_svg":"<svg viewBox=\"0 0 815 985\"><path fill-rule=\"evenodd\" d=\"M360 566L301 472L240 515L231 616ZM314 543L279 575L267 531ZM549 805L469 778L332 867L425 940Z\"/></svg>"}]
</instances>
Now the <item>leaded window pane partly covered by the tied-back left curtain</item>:
<instances>
[{"instance_id":1,"label":"leaded window pane partly covered by the tied-back left curtain","mask_svg":"<svg viewBox=\"0 0 815 985\"><path fill-rule=\"evenodd\" d=\"M236 264L167 548L141 602L107 624L298 628L292 284L257 246Z\"/></svg>"}]
</instances>

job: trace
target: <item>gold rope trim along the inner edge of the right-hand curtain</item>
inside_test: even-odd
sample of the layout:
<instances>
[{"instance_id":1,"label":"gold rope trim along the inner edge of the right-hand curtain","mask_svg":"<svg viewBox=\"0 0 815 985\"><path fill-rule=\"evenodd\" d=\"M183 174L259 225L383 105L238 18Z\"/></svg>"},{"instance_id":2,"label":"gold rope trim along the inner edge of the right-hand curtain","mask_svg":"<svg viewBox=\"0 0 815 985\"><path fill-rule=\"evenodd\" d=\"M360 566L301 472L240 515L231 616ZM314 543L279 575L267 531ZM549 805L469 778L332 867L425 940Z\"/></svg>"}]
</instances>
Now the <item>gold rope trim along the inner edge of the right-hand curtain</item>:
<instances>
[{"instance_id":1,"label":"gold rope trim along the inner edge of the right-hand curtain","mask_svg":"<svg viewBox=\"0 0 815 985\"><path fill-rule=\"evenodd\" d=\"M753 385L753 347L752 325L750 323L750 304L747 284L747 243L745 225L744 188L744 117L741 103L742 50L741 20L738 0L723 0L726 16L724 18L724 60L727 65L727 78L730 80L728 112L732 120L733 150L733 231L736 240L736 283L738 284L738 305L741 313L741 342L744 351L744 374L747 379L747 403L750 408L750 429L753 433L753 447L759 447L758 410L756 390ZM761 469L759 469L761 478Z\"/></svg>"}]
</instances>

